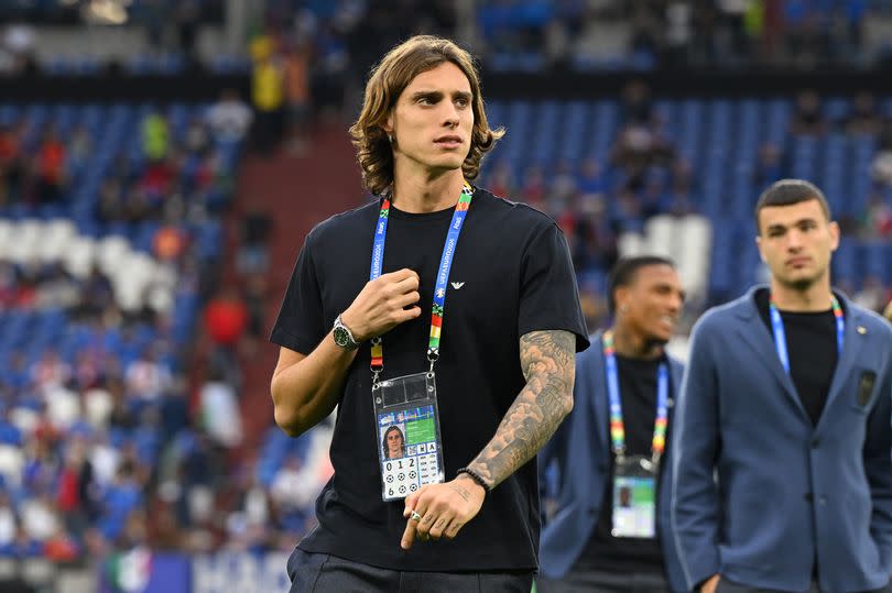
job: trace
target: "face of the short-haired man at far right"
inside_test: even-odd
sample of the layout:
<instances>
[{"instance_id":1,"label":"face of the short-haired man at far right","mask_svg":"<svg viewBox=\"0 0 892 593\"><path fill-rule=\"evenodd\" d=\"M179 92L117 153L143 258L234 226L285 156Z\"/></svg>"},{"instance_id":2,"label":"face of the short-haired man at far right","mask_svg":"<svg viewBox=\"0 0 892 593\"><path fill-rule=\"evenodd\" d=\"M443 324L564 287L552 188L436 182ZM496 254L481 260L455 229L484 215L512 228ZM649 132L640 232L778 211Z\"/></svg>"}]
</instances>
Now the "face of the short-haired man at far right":
<instances>
[{"instance_id":1,"label":"face of the short-haired man at far right","mask_svg":"<svg viewBox=\"0 0 892 593\"><path fill-rule=\"evenodd\" d=\"M816 199L769 206L759 212L755 242L775 281L805 289L827 275L839 227L827 220Z\"/></svg>"}]
</instances>

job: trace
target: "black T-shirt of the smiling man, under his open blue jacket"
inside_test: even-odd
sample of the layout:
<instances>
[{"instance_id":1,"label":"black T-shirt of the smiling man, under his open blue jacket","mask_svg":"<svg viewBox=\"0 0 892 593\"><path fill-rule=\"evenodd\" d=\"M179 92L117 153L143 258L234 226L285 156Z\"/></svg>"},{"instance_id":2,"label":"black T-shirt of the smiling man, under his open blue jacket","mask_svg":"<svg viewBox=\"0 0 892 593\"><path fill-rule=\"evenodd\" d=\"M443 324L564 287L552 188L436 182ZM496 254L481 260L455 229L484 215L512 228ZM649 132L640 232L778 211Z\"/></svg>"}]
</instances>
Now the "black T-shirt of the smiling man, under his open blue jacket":
<instances>
[{"instance_id":1,"label":"black T-shirt of the smiling man, under his open blue jacket","mask_svg":"<svg viewBox=\"0 0 892 593\"><path fill-rule=\"evenodd\" d=\"M655 360L629 359L617 354L620 403L626 429L626 451L629 455L649 457L653 450L653 427L656 420L656 376L664 358ZM668 364L668 363L666 363ZM670 389L672 386L670 385ZM672 393L670 393L672 397ZM608 424L610 435L610 418ZM668 437L668 435L666 435ZM666 439L668 442L668 438ZM601 514L595 531L579 562L590 569L663 570L663 553L656 538L613 537L613 472L614 457L610 455L610 476L605 484ZM662 472L660 472L662 474ZM657 474L657 488L660 486Z\"/></svg>"}]
</instances>

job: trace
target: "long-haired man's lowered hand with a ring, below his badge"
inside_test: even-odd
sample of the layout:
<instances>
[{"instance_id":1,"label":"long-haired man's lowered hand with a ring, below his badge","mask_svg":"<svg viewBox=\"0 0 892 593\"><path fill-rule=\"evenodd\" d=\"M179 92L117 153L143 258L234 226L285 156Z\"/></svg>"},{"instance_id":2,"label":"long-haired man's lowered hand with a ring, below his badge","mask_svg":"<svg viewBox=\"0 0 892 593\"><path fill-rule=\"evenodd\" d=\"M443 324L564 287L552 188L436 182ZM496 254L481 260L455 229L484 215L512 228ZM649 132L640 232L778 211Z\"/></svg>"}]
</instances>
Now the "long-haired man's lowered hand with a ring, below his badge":
<instances>
[{"instance_id":1,"label":"long-haired man's lowered hand with a ring, below his badge","mask_svg":"<svg viewBox=\"0 0 892 593\"><path fill-rule=\"evenodd\" d=\"M480 512L486 491L465 474L445 484L423 486L405 499L403 516L407 519L400 546L407 550L417 535L421 541L453 539L458 530ZM413 519L413 513L420 518Z\"/></svg>"}]
</instances>

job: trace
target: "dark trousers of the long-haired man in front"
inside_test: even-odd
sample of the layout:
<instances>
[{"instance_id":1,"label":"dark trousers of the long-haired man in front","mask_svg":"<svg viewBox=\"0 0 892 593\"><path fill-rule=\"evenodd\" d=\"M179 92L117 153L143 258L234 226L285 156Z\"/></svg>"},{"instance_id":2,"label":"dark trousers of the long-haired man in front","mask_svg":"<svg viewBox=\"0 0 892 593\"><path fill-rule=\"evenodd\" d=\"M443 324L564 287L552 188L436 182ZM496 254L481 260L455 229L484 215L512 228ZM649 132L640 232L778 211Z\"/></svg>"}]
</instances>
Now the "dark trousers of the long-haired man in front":
<instances>
[{"instance_id":1,"label":"dark trousers of the long-haired man in front","mask_svg":"<svg viewBox=\"0 0 892 593\"><path fill-rule=\"evenodd\" d=\"M530 593L533 574L402 572L296 548L289 558L290 593Z\"/></svg>"}]
</instances>

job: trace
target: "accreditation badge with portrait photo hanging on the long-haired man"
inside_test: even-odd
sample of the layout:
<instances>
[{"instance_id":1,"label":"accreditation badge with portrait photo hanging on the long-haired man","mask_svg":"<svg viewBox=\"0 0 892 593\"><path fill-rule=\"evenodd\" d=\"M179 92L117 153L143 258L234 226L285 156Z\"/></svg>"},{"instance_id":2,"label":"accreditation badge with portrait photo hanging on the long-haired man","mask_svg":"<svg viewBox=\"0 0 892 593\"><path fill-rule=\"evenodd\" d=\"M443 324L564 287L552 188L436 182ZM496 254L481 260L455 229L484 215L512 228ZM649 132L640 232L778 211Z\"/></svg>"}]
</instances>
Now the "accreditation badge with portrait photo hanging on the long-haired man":
<instances>
[{"instance_id":1,"label":"accreditation badge with portrait photo hanging on the long-haired man","mask_svg":"<svg viewBox=\"0 0 892 593\"><path fill-rule=\"evenodd\" d=\"M436 375L416 373L372 386L381 498L399 501L444 481Z\"/></svg>"}]
</instances>

